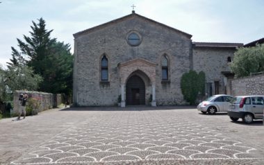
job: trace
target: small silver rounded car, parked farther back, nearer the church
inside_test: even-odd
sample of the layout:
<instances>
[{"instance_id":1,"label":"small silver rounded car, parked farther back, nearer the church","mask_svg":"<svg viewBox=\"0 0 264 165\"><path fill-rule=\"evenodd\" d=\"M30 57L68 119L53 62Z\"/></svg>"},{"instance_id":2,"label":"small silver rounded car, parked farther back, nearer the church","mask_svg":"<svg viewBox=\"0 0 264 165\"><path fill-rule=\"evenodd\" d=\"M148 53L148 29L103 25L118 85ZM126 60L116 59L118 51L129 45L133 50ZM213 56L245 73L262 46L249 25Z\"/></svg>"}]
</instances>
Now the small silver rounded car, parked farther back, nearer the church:
<instances>
[{"instance_id":1,"label":"small silver rounded car, parked farther back, nearer the church","mask_svg":"<svg viewBox=\"0 0 264 165\"><path fill-rule=\"evenodd\" d=\"M202 101L197 106L197 110L201 111L203 114L215 114L216 112L227 112L229 108L229 102L233 96L226 94L217 94L207 98Z\"/></svg>"}]
</instances>

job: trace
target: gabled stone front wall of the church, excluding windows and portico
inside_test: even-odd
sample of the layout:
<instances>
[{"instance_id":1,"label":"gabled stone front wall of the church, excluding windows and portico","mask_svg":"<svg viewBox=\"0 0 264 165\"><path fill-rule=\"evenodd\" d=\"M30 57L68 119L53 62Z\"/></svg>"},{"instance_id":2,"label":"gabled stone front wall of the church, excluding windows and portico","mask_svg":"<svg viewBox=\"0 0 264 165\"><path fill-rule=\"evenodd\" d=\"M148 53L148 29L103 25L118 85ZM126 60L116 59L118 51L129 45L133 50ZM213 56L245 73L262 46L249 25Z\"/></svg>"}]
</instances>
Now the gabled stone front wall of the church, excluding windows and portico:
<instances>
[{"instance_id":1,"label":"gabled stone front wall of the church, excluding windows and portico","mask_svg":"<svg viewBox=\"0 0 264 165\"><path fill-rule=\"evenodd\" d=\"M130 46L126 36L137 31L142 37L139 46ZM131 17L105 28L75 38L74 103L79 106L116 105L121 94L117 64L142 58L156 66L156 103L183 103L181 76L190 69L192 42L182 33L153 24L140 17ZM169 57L170 82L161 82L160 57ZM100 80L100 61L108 58L109 82Z\"/></svg>"}]
</instances>

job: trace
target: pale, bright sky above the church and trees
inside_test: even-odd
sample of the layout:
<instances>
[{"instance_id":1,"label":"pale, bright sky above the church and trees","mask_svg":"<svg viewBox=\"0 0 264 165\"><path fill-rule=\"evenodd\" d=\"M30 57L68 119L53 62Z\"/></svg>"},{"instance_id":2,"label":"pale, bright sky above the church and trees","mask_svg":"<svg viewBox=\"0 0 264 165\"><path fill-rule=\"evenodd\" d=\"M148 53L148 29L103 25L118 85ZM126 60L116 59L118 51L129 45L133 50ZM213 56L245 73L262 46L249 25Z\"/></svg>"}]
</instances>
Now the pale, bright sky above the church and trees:
<instances>
[{"instance_id":1,"label":"pale, bright sky above the church and trees","mask_svg":"<svg viewBox=\"0 0 264 165\"><path fill-rule=\"evenodd\" d=\"M74 44L72 34L131 14L192 35L194 42L247 44L264 37L263 0L0 0L0 64L11 58L17 38L42 17L52 37ZM72 49L73 52L73 49Z\"/></svg>"}]
</instances>

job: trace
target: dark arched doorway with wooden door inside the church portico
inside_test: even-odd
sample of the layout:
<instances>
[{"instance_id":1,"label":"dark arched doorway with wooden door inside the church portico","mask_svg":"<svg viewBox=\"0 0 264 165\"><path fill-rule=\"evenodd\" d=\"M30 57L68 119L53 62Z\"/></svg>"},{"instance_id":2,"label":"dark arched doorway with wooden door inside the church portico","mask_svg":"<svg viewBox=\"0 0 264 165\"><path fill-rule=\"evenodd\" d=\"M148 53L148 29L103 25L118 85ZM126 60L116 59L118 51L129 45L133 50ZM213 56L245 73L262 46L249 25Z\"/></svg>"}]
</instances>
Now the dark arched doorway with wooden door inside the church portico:
<instances>
[{"instance_id":1,"label":"dark arched doorway with wooden door inside the church portico","mask_svg":"<svg viewBox=\"0 0 264 165\"><path fill-rule=\"evenodd\" d=\"M126 105L145 105L145 83L140 76L133 75L126 82Z\"/></svg>"}]
</instances>

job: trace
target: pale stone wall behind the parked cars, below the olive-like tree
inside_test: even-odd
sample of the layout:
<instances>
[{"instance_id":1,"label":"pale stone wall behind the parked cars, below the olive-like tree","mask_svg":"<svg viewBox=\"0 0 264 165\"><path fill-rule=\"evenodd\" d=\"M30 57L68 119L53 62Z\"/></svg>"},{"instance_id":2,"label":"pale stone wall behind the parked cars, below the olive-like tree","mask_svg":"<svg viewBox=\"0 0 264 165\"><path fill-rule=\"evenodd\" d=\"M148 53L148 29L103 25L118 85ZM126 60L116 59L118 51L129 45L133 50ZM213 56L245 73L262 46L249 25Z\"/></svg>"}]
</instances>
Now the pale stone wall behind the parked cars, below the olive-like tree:
<instances>
[{"instance_id":1,"label":"pale stone wall behind the parked cars, below the olive-like tree","mask_svg":"<svg viewBox=\"0 0 264 165\"><path fill-rule=\"evenodd\" d=\"M264 74L231 80L231 94L264 95Z\"/></svg>"}]
</instances>

